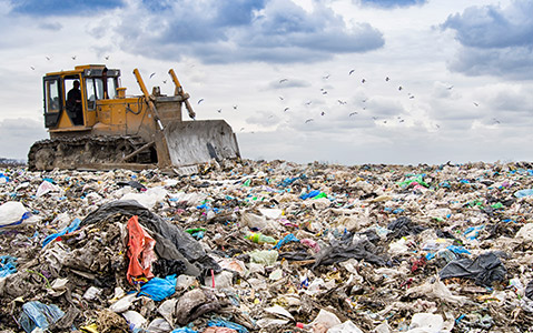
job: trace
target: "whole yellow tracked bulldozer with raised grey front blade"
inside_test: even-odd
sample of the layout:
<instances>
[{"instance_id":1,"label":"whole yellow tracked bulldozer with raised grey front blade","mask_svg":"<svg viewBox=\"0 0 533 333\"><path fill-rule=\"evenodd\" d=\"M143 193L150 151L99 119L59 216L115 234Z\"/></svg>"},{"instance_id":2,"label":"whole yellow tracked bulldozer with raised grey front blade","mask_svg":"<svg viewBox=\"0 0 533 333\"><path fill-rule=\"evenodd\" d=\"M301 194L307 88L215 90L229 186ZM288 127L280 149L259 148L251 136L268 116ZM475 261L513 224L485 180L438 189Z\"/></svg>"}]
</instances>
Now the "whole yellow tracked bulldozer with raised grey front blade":
<instances>
[{"instance_id":1,"label":"whole yellow tracked bulldozer with raised grey front blade","mask_svg":"<svg viewBox=\"0 0 533 333\"><path fill-rule=\"evenodd\" d=\"M236 134L224 120L196 120L175 71L174 95L151 93L138 69L140 95L127 95L120 70L77 65L42 79L45 127L50 139L34 142L29 170L161 169L194 173L216 160L240 159ZM181 117L182 105L191 120Z\"/></svg>"}]
</instances>

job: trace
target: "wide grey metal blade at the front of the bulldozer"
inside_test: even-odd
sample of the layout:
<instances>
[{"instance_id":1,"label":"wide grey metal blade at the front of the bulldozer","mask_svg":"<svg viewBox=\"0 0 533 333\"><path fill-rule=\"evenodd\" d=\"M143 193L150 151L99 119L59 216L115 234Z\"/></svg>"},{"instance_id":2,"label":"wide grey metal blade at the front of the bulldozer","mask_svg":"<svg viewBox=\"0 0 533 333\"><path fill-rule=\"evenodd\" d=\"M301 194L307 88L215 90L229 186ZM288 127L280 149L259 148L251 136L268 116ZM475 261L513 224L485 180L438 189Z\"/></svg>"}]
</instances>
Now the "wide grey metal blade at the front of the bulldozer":
<instances>
[{"instance_id":1,"label":"wide grey metal blade at the front of the bulldozer","mask_svg":"<svg viewBox=\"0 0 533 333\"><path fill-rule=\"evenodd\" d=\"M175 167L240 158L235 133L224 120L170 122L164 133Z\"/></svg>"}]
</instances>

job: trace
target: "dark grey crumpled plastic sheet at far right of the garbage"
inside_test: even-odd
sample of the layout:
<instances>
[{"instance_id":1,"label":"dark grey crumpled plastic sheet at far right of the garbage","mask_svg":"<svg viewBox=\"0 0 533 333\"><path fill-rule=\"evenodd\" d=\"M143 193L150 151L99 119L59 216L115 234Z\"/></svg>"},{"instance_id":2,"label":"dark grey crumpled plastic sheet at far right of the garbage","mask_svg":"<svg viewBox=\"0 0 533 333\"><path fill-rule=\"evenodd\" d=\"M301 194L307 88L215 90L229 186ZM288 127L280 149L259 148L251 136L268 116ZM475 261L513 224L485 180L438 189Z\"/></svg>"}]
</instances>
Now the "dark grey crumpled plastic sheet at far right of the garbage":
<instances>
[{"instance_id":1,"label":"dark grey crumpled plastic sheet at far right of the garbage","mask_svg":"<svg viewBox=\"0 0 533 333\"><path fill-rule=\"evenodd\" d=\"M465 278L478 285L491 286L494 281L504 281L507 270L493 252L480 254L474 261L468 258L450 262L438 273L441 279Z\"/></svg>"}]
</instances>

